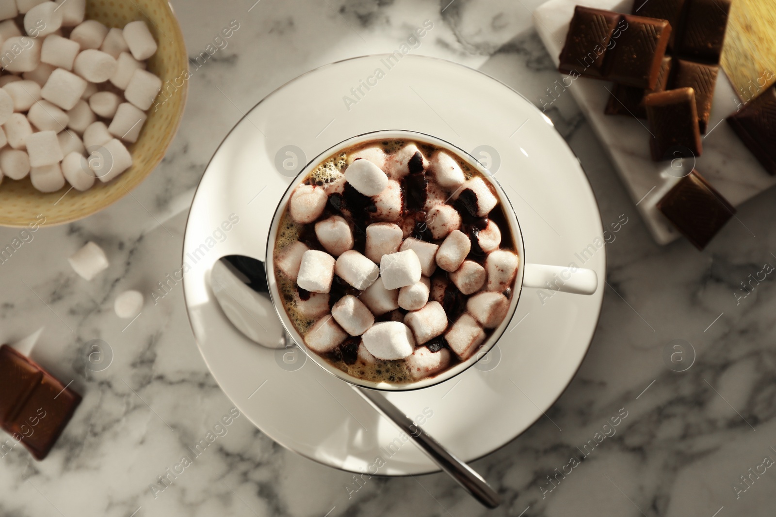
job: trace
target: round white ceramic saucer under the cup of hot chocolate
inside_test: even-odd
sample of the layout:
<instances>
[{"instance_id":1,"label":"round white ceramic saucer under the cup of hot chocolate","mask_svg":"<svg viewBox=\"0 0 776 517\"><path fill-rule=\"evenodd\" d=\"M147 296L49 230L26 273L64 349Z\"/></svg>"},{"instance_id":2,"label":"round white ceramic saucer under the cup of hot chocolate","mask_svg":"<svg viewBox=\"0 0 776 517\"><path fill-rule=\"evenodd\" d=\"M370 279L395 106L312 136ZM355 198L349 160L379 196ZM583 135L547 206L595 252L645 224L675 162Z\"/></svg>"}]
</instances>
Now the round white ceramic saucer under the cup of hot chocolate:
<instances>
[{"instance_id":1,"label":"round white ceramic saucer under the cup of hot chocolate","mask_svg":"<svg viewBox=\"0 0 776 517\"><path fill-rule=\"evenodd\" d=\"M223 141L196 191L183 250L185 300L213 377L263 433L331 467L365 471L380 457L378 474L422 474L438 469L348 384L299 350L268 350L234 329L208 281L223 255L263 259L275 206L307 160L380 129L435 135L483 160L511 198L525 260L573 262L599 278L591 296L524 288L508 331L476 367L386 397L411 418L421 415L424 429L467 461L544 418L598 322L606 268L601 217L584 171L549 119L504 84L458 64L359 57L310 71L256 105Z\"/></svg>"}]
</instances>

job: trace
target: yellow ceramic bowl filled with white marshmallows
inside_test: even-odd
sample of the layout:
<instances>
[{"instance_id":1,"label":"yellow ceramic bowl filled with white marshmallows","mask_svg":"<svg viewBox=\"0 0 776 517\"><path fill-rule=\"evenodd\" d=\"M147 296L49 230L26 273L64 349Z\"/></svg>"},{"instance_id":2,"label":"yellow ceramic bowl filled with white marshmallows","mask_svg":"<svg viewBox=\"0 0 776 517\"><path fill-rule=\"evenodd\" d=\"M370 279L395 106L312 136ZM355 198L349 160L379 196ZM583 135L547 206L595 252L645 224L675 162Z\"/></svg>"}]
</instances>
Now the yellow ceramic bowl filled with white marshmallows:
<instances>
[{"instance_id":1,"label":"yellow ceramic bowl filled with white marshmallows","mask_svg":"<svg viewBox=\"0 0 776 517\"><path fill-rule=\"evenodd\" d=\"M0 67L3 226L81 219L126 195L164 157L185 104L167 2L2 0Z\"/></svg>"}]
</instances>

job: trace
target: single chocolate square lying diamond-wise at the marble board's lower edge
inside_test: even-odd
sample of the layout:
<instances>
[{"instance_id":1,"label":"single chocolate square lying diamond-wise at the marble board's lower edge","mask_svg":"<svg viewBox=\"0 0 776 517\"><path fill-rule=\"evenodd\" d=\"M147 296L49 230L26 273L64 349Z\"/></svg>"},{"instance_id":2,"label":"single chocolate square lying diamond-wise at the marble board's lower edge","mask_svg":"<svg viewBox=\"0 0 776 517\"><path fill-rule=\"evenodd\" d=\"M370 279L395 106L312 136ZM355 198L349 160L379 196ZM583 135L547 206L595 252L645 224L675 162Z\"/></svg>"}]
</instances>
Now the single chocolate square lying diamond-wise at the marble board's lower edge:
<instances>
[{"instance_id":1,"label":"single chocolate square lying diamond-wise at the marble board's lower edge","mask_svg":"<svg viewBox=\"0 0 776 517\"><path fill-rule=\"evenodd\" d=\"M736 213L733 205L695 170L681 178L657 202L657 209L698 250L703 250Z\"/></svg>"}]
</instances>

